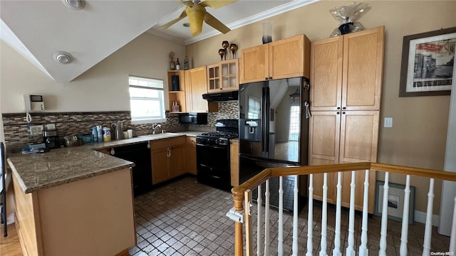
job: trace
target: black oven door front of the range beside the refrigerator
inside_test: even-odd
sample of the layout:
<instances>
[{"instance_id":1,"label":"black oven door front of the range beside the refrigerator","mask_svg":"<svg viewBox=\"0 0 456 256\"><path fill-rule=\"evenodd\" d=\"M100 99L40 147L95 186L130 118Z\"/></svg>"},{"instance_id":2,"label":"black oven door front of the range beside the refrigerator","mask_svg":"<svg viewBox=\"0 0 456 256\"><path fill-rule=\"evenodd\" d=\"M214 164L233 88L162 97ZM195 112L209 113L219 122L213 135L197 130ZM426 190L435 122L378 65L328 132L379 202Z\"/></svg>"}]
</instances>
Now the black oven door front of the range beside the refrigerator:
<instances>
[{"instance_id":1,"label":"black oven door front of the range beside the refrigerator","mask_svg":"<svg viewBox=\"0 0 456 256\"><path fill-rule=\"evenodd\" d=\"M197 180L216 188L231 188L229 145L197 143Z\"/></svg>"}]
</instances>

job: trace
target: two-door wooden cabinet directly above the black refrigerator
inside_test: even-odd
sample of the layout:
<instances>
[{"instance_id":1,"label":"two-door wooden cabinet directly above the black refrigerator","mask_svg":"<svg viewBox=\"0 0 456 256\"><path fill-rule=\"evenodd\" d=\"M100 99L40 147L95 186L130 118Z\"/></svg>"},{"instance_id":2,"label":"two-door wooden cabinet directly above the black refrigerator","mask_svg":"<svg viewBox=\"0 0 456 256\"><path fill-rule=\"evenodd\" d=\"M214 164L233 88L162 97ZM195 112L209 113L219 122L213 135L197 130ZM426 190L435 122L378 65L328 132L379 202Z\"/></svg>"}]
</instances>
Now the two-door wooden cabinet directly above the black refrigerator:
<instances>
[{"instance_id":1,"label":"two-door wooden cabinet directly above the black refrigerator","mask_svg":"<svg viewBox=\"0 0 456 256\"><path fill-rule=\"evenodd\" d=\"M242 50L239 82L293 78L310 75L310 41L294 36Z\"/></svg>"}]
</instances>

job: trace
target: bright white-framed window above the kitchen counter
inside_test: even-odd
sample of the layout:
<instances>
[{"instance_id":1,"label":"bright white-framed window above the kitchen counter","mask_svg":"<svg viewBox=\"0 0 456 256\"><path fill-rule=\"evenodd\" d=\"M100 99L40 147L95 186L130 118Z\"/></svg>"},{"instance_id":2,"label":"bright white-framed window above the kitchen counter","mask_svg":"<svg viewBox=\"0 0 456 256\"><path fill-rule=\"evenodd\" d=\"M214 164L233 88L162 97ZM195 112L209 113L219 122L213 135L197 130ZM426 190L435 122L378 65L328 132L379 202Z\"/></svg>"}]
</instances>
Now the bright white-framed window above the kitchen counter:
<instances>
[{"instance_id":1,"label":"bright white-framed window above the kitchen counter","mask_svg":"<svg viewBox=\"0 0 456 256\"><path fill-rule=\"evenodd\" d=\"M163 80L130 76L128 82L132 122L165 122Z\"/></svg>"}]
</instances>

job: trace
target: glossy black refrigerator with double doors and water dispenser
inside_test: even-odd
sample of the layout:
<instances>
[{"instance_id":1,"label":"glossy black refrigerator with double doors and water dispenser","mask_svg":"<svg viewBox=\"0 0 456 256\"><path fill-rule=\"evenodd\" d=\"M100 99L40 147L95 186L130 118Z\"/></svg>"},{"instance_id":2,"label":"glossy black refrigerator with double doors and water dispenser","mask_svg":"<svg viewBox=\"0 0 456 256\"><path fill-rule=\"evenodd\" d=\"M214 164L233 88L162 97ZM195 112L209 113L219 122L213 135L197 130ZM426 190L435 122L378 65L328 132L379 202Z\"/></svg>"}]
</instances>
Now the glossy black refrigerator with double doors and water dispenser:
<instances>
[{"instance_id":1,"label":"glossy black refrigerator with double doors and water dispenser","mask_svg":"<svg viewBox=\"0 0 456 256\"><path fill-rule=\"evenodd\" d=\"M266 168L307 165L309 86L301 77L239 85L240 183ZM285 210L293 210L295 182L300 198L306 196L306 176L284 176ZM271 178L269 187L269 202L278 207L279 178Z\"/></svg>"}]
</instances>

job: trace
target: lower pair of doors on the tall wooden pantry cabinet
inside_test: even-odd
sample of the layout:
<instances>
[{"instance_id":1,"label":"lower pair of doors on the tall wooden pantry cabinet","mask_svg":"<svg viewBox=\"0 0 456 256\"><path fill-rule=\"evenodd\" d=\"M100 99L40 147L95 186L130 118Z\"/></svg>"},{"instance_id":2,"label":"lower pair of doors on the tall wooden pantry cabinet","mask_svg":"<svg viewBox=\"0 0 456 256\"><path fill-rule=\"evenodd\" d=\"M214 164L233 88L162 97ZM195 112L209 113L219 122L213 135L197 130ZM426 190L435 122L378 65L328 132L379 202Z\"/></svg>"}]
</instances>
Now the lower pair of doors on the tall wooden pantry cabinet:
<instances>
[{"instance_id":1,"label":"lower pair of doors on the tall wooden pantry cabinet","mask_svg":"<svg viewBox=\"0 0 456 256\"><path fill-rule=\"evenodd\" d=\"M309 121L311 165L377 161L378 111L315 111ZM351 173L343 174L342 206L350 205ZM364 172L356 173L356 210L363 206ZM328 174L328 203L336 203L337 174ZM369 173L368 212L373 213L375 171ZM323 174L314 174L314 198L323 200ZM358 196L361 195L361 196Z\"/></svg>"}]
</instances>

